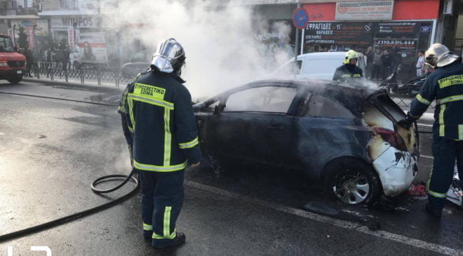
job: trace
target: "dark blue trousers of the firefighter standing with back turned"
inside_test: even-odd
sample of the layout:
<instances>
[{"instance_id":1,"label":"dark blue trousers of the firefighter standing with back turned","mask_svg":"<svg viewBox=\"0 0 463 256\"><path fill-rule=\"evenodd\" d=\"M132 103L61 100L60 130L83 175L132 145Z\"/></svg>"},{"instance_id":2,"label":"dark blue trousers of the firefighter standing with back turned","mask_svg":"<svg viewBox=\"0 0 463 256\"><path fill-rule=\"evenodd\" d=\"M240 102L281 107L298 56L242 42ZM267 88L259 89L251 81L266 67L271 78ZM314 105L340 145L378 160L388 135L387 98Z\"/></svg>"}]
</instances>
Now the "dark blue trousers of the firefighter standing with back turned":
<instances>
[{"instance_id":1,"label":"dark blue trousers of the firefighter standing with back turned","mask_svg":"<svg viewBox=\"0 0 463 256\"><path fill-rule=\"evenodd\" d=\"M138 170L142 184L144 232L153 239L175 238L175 222L183 206L184 170L161 173Z\"/></svg>"}]
</instances>

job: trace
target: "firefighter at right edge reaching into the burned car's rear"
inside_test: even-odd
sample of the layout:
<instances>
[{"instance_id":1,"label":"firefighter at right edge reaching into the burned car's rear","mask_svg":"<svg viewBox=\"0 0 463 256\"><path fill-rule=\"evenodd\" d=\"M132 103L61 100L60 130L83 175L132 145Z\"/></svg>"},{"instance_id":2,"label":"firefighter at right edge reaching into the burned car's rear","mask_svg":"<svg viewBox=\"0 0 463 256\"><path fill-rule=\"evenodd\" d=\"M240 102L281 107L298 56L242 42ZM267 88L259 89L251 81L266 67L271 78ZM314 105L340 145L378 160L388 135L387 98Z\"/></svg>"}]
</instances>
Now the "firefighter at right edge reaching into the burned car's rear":
<instances>
[{"instance_id":1,"label":"firefighter at right edge reaching into the burned car's rear","mask_svg":"<svg viewBox=\"0 0 463 256\"><path fill-rule=\"evenodd\" d=\"M436 71L428 76L412 101L407 118L399 123L409 127L436 100L432 144L434 161L427 182L429 202L426 211L434 217L441 217L455 159L463 163L463 64L461 58L450 53L441 43L434 43L426 51L425 61ZM461 168L459 177L462 183Z\"/></svg>"}]
</instances>

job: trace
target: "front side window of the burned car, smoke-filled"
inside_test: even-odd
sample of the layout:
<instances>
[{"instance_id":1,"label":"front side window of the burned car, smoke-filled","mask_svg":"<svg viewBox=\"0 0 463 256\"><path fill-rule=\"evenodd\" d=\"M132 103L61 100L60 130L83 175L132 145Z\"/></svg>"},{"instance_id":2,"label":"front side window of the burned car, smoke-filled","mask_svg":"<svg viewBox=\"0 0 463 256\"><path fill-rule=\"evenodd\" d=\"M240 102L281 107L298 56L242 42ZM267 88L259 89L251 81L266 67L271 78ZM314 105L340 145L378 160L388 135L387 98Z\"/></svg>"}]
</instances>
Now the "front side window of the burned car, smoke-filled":
<instances>
[{"instance_id":1,"label":"front side window of the burned car, smoke-filled","mask_svg":"<svg viewBox=\"0 0 463 256\"><path fill-rule=\"evenodd\" d=\"M296 88L279 86L241 90L228 97L223 112L288 113L296 93Z\"/></svg>"}]
</instances>

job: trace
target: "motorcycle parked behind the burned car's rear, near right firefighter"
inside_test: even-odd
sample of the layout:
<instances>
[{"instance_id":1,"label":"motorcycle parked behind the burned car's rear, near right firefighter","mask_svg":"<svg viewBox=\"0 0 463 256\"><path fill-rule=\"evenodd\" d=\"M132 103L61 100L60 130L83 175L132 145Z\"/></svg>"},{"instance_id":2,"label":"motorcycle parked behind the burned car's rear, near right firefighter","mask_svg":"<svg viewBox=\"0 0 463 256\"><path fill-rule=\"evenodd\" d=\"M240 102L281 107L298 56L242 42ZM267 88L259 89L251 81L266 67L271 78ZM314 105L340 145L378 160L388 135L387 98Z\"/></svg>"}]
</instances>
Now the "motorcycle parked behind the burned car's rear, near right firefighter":
<instances>
[{"instance_id":1,"label":"motorcycle parked behind the burned car's rear, near right firefighter","mask_svg":"<svg viewBox=\"0 0 463 256\"><path fill-rule=\"evenodd\" d=\"M426 76L415 77L414 79L403 81L401 85L397 83L397 74L401 67L397 67L390 76L378 84L380 88L387 91L388 95L394 94L399 96L415 97L420 93L420 88L426 81Z\"/></svg>"}]
</instances>

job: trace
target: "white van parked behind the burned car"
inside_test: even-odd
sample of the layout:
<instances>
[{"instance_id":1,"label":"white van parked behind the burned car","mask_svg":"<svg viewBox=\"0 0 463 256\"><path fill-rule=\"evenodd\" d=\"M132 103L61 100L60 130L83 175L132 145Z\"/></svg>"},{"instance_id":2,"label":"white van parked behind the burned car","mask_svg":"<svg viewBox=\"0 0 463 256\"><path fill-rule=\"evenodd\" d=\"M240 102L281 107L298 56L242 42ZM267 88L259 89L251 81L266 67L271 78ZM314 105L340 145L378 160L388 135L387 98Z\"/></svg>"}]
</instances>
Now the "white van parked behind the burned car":
<instances>
[{"instance_id":1,"label":"white van parked behind the burned car","mask_svg":"<svg viewBox=\"0 0 463 256\"><path fill-rule=\"evenodd\" d=\"M279 69L273 72L272 76L287 76L294 74L296 78L326 79L332 80L333 74L337 67L342 65L342 60L347 52L323 52L323 53L305 53L297 56L297 66L294 65L294 58L290 58ZM357 66L363 71L365 77L366 57L358 53ZM297 67L297 69L296 69Z\"/></svg>"}]
</instances>

